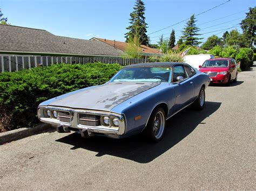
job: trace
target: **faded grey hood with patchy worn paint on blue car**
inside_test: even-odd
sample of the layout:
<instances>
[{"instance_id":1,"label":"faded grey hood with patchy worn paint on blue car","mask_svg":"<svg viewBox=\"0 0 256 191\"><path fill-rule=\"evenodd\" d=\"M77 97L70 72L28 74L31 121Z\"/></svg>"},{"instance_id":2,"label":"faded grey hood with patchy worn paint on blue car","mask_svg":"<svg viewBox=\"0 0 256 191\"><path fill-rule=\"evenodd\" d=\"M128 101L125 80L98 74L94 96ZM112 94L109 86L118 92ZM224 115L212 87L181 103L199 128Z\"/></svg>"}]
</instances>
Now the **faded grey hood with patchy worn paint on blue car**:
<instances>
[{"instance_id":1,"label":"faded grey hood with patchy worn paint on blue car","mask_svg":"<svg viewBox=\"0 0 256 191\"><path fill-rule=\"evenodd\" d=\"M40 105L109 111L160 82L111 82L52 98Z\"/></svg>"}]
</instances>

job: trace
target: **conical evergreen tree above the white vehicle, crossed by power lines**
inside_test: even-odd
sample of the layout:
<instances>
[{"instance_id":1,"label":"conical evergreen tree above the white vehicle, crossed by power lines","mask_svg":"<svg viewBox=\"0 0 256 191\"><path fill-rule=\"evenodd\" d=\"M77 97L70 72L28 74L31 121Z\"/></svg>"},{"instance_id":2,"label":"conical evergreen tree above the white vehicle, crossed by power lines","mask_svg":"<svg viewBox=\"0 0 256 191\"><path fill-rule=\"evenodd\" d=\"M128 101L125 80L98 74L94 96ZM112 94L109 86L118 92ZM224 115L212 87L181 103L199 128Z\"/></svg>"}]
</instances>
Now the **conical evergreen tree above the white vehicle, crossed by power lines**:
<instances>
[{"instance_id":1,"label":"conical evergreen tree above the white vehicle, crossed by power lines","mask_svg":"<svg viewBox=\"0 0 256 191\"><path fill-rule=\"evenodd\" d=\"M186 23L186 26L184 30L182 31L184 43L188 46L198 46L201 42L202 38L198 38L200 34L198 31L200 31L199 27L196 26L197 20L195 19L194 15L190 17L190 20Z\"/></svg>"}]
</instances>

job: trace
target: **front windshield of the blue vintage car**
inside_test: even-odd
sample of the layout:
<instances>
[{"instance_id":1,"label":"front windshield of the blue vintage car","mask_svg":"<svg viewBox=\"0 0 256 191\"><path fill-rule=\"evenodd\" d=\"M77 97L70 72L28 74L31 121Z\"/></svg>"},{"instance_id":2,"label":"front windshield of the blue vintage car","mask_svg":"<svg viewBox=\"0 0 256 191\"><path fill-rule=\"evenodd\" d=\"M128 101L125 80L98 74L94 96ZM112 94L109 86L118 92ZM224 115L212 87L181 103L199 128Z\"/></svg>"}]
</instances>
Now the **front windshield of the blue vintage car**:
<instances>
[{"instance_id":1,"label":"front windshield of the blue vintage car","mask_svg":"<svg viewBox=\"0 0 256 191\"><path fill-rule=\"evenodd\" d=\"M111 82L169 82L170 71L170 67L124 68Z\"/></svg>"}]
</instances>

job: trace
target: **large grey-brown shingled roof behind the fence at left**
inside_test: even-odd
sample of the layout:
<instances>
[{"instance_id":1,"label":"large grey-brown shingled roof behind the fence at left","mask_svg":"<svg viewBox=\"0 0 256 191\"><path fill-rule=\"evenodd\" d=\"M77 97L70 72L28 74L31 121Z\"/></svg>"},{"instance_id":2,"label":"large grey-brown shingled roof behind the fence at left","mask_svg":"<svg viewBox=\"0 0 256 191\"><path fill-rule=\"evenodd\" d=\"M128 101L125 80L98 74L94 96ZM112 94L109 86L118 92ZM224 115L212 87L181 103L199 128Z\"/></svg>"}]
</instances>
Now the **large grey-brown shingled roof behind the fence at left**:
<instances>
[{"instance_id":1,"label":"large grey-brown shingled roof behind the fence at left","mask_svg":"<svg viewBox=\"0 0 256 191\"><path fill-rule=\"evenodd\" d=\"M123 53L101 41L60 37L41 29L0 24L1 51L111 56Z\"/></svg>"}]
</instances>

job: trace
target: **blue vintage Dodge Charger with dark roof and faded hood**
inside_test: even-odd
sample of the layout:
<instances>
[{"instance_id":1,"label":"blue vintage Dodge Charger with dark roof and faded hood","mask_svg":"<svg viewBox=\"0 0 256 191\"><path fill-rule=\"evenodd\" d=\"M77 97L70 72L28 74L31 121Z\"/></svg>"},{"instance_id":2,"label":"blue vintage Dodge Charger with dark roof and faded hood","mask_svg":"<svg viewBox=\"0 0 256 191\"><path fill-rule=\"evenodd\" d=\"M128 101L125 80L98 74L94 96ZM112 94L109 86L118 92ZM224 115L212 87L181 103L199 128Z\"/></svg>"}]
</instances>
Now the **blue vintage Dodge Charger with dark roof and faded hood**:
<instances>
[{"instance_id":1,"label":"blue vintage Dodge Charger with dark roof and faded hood","mask_svg":"<svg viewBox=\"0 0 256 191\"><path fill-rule=\"evenodd\" d=\"M166 119L192 105L204 108L207 74L186 63L139 63L126 66L100 86L64 94L38 106L38 118L58 132L82 137L124 138L142 132L158 142Z\"/></svg>"}]
</instances>

